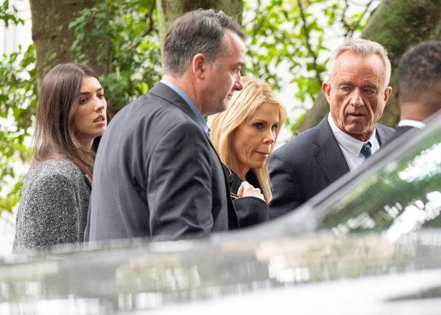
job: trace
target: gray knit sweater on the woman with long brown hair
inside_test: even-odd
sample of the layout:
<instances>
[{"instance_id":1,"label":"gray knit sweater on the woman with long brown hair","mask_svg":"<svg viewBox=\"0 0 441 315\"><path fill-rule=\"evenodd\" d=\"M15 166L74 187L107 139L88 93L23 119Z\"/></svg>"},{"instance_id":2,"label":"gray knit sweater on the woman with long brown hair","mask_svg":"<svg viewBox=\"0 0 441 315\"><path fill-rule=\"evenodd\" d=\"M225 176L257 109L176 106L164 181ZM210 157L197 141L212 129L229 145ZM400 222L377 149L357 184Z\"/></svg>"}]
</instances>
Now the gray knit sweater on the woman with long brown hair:
<instances>
[{"instance_id":1,"label":"gray knit sweater on the woman with long brown hair","mask_svg":"<svg viewBox=\"0 0 441 315\"><path fill-rule=\"evenodd\" d=\"M32 163L21 192L12 252L83 241L91 187L71 160Z\"/></svg>"}]
</instances>

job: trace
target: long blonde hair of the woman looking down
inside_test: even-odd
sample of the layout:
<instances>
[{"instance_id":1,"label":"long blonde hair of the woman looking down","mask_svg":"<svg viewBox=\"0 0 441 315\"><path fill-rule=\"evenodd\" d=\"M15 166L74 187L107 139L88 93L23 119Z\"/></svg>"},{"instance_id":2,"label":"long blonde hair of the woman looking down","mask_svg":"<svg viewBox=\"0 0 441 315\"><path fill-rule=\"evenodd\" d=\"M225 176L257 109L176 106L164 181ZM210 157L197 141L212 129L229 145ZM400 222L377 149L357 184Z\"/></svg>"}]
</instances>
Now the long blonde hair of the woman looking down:
<instances>
[{"instance_id":1,"label":"long blonde hair of the woman looking down","mask_svg":"<svg viewBox=\"0 0 441 315\"><path fill-rule=\"evenodd\" d=\"M234 91L228 109L208 118L214 148L216 148L220 160L227 166L232 165L232 157L234 156L232 154L232 135L234 131L240 124L249 120L260 105L265 103L278 105L279 123L276 129L276 139L287 117L285 107L276 98L267 83L246 76L242 78L242 81L243 89ZM253 169L267 203L271 202L272 199L268 162L269 159L261 169Z\"/></svg>"}]
</instances>

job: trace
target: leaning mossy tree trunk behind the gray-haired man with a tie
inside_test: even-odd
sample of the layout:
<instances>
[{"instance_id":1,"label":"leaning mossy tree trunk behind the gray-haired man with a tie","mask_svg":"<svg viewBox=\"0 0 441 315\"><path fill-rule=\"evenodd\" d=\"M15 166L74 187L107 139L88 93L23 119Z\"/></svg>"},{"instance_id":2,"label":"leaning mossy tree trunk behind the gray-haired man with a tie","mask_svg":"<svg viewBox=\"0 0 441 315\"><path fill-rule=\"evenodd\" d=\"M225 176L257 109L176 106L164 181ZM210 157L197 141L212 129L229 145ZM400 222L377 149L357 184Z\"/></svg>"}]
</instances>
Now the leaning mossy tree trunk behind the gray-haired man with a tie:
<instances>
[{"instance_id":1,"label":"leaning mossy tree trunk behind the gray-haired man with a tie","mask_svg":"<svg viewBox=\"0 0 441 315\"><path fill-rule=\"evenodd\" d=\"M427 39L441 39L441 0L384 0L361 37L382 44L389 52L393 90L380 122L395 127L400 120L396 68L409 47ZM327 100L320 93L298 131L314 127L328 111Z\"/></svg>"}]
</instances>

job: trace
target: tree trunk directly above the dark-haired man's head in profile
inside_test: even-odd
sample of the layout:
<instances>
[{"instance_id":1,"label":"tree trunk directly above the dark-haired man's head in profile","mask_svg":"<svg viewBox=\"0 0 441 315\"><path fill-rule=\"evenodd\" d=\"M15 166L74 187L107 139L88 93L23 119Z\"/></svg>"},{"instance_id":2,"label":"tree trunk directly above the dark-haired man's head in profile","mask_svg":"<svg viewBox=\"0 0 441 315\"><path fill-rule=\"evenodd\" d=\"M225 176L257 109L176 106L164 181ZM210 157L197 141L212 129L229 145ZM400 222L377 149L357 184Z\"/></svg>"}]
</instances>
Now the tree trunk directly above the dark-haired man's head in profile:
<instances>
[{"instance_id":1,"label":"tree trunk directly above the dark-haired man's head in profile","mask_svg":"<svg viewBox=\"0 0 441 315\"><path fill-rule=\"evenodd\" d=\"M242 22L242 0L156 0L159 17L159 33L164 41L170 23L184 12L203 9L222 10Z\"/></svg>"}]
</instances>

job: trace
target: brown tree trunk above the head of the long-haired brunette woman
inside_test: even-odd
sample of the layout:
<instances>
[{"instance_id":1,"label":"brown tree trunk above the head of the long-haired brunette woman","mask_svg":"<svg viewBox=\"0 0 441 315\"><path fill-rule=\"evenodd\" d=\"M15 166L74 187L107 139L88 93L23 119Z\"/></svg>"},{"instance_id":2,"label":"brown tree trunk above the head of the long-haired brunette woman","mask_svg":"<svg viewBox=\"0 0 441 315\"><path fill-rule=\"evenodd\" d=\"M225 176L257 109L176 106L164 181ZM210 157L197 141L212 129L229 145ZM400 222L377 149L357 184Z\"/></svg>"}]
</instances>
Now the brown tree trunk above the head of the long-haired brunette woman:
<instances>
[{"instance_id":1,"label":"brown tree trunk above the head of the long-haired brunette woman","mask_svg":"<svg viewBox=\"0 0 441 315\"><path fill-rule=\"evenodd\" d=\"M30 0L32 40L37 52L37 78L43 76L58 63L75 61L70 52L74 39L69 23L77 12L92 8L104 0ZM87 40L87 39L86 39ZM96 50L99 45L94 45ZM89 52L92 56L96 53ZM91 60L90 67L99 72L99 62Z\"/></svg>"}]
</instances>

